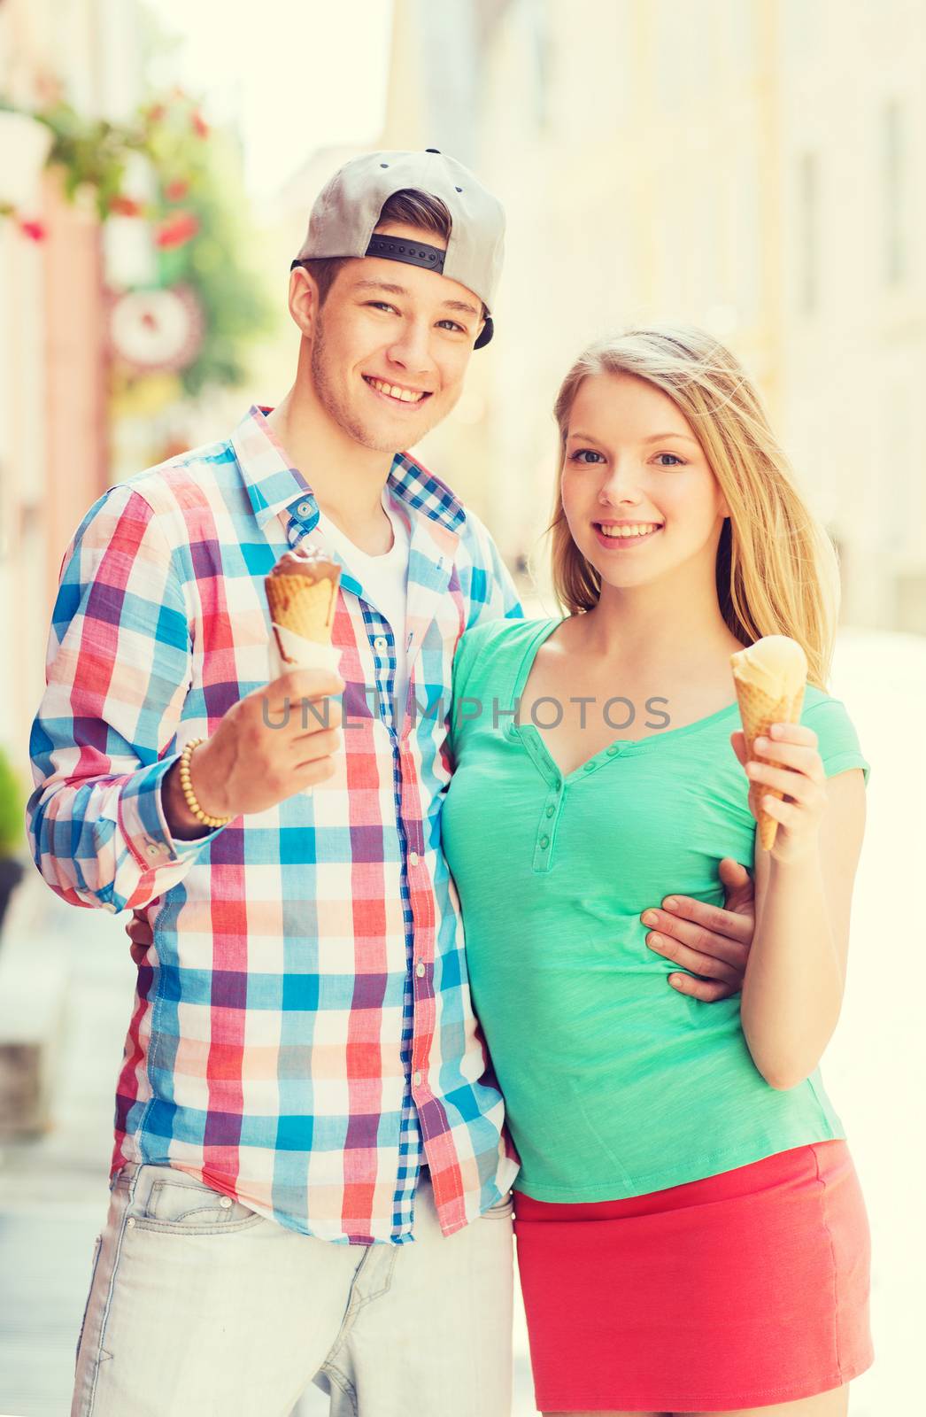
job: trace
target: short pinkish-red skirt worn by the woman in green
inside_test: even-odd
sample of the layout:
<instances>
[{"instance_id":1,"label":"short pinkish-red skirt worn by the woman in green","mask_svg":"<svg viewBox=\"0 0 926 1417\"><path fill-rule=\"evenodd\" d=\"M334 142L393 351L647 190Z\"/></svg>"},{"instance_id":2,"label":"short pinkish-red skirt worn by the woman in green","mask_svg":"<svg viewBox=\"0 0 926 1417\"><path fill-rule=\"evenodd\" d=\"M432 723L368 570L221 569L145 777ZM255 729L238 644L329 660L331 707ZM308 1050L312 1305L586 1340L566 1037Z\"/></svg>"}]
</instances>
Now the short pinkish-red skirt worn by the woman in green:
<instances>
[{"instance_id":1,"label":"short pinkish-red skirt worn by the woman in green","mask_svg":"<svg viewBox=\"0 0 926 1417\"><path fill-rule=\"evenodd\" d=\"M872 1362L865 1203L842 1141L629 1200L515 1190L542 1411L733 1411Z\"/></svg>"}]
</instances>

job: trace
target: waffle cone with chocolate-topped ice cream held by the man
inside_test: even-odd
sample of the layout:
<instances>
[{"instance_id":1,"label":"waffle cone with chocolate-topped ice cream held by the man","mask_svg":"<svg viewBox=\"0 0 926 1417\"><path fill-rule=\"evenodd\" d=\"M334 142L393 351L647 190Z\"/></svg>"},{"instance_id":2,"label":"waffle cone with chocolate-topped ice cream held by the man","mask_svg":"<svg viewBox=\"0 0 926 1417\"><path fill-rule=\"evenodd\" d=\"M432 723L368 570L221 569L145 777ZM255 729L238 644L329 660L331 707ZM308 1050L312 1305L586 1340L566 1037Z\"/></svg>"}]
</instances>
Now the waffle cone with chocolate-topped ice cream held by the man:
<instances>
[{"instance_id":1,"label":"waffle cone with chocolate-topped ice cream held by the man","mask_svg":"<svg viewBox=\"0 0 926 1417\"><path fill-rule=\"evenodd\" d=\"M265 578L270 679L290 669L337 672L341 656L331 645L331 628L340 580L337 561L316 547L285 551Z\"/></svg>"}]
</instances>

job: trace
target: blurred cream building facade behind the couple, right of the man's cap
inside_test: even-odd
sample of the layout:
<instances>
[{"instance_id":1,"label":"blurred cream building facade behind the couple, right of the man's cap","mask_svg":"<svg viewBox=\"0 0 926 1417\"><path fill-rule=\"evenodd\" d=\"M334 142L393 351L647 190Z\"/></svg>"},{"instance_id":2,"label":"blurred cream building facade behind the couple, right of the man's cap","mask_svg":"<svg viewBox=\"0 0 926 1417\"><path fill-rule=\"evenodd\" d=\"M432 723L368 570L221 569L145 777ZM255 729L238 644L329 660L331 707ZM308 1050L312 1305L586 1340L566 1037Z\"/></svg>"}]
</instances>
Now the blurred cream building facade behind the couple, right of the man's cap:
<instances>
[{"instance_id":1,"label":"blurred cream building facade behind the couple, right of the man's cap","mask_svg":"<svg viewBox=\"0 0 926 1417\"><path fill-rule=\"evenodd\" d=\"M457 152L508 213L496 340L422 456L541 588L562 376L684 320L763 390L844 621L926 633L925 61L910 0L396 0L384 143Z\"/></svg>"}]
</instances>

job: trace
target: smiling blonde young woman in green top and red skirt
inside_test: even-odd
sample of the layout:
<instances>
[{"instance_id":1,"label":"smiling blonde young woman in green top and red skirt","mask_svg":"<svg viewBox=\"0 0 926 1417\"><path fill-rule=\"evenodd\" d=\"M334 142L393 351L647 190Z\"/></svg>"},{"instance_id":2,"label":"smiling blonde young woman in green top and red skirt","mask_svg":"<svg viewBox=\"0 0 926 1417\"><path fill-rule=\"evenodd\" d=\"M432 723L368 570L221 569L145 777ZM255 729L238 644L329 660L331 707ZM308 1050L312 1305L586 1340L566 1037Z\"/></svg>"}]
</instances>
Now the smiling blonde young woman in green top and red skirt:
<instances>
[{"instance_id":1,"label":"smiling blonde young woman in green top and red skirt","mask_svg":"<svg viewBox=\"0 0 926 1417\"><path fill-rule=\"evenodd\" d=\"M707 334L588 350L556 401L564 619L467 632L443 843L521 1156L544 1413L837 1417L872 1360L868 1226L817 1063L845 981L868 764L825 691L835 561ZM804 649L748 761L731 653ZM517 711L517 713L515 713ZM756 840L750 784L777 835ZM668 883L756 871L742 996L667 986ZM670 907L670 901L663 900ZM643 911L643 914L641 914Z\"/></svg>"}]
</instances>

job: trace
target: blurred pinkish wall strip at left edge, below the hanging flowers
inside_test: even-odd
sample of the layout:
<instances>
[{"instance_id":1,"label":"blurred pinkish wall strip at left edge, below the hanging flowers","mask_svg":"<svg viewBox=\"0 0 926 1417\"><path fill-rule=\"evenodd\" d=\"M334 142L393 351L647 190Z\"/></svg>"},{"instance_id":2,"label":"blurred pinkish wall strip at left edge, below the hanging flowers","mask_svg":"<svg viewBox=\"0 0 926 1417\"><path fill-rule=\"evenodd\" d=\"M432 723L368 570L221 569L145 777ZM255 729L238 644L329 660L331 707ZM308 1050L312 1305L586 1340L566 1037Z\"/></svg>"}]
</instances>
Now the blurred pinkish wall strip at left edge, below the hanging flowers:
<instances>
[{"instance_id":1,"label":"blurred pinkish wall strip at left edge, below the hanging flowers","mask_svg":"<svg viewBox=\"0 0 926 1417\"><path fill-rule=\"evenodd\" d=\"M38 187L45 241L27 247L7 227L0 255L10 316L0 334L0 663L16 666L0 693L0 741L20 761L45 683L61 555L105 486L98 228L54 180Z\"/></svg>"}]
</instances>

